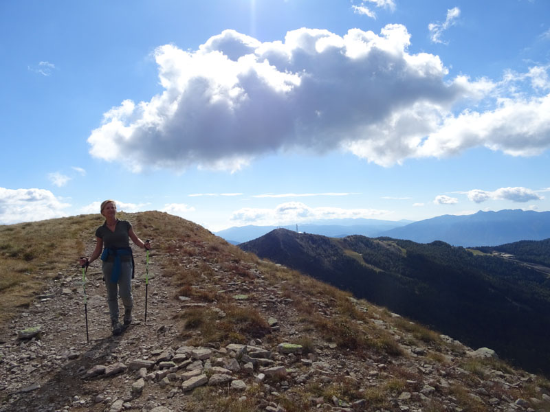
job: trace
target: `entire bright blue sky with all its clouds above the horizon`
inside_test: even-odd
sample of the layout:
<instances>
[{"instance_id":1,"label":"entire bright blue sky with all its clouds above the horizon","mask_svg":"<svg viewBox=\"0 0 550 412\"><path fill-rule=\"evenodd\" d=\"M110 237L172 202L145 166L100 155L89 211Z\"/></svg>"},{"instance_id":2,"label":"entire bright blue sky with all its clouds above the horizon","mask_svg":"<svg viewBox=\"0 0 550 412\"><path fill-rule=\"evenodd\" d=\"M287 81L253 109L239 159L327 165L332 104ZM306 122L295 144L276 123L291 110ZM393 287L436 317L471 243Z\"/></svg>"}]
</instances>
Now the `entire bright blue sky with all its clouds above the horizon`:
<instances>
[{"instance_id":1,"label":"entire bright blue sky with all its clouds above the horizon","mask_svg":"<svg viewBox=\"0 0 550 412\"><path fill-rule=\"evenodd\" d=\"M546 0L2 1L0 224L550 210Z\"/></svg>"}]
</instances>

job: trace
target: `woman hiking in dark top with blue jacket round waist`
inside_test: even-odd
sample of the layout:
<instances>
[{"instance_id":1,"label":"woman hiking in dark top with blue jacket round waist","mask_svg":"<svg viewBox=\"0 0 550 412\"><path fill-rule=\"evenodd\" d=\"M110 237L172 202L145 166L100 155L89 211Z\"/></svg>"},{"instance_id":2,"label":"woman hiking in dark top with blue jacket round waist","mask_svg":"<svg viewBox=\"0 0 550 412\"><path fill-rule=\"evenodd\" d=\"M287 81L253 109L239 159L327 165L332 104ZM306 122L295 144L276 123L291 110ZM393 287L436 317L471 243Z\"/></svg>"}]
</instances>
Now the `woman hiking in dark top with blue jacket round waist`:
<instances>
[{"instance_id":1,"label":"woman hiking in dark top with blue jacket round waist","mask_svg":"<svg viewBox=\"0 0 550 412\"><path fill-rule=\"evenodd\" d=\"M111 314L113 335L122 333L132 322L132 286L133 255L129 240L144 249L151 249L151 244L143 242L133 231L128 220L116 217L116 203L107 200L101 203L101 214L105 218L103 225L96 230L96 249L88 258L80 258L80 265L88 265L101 255L103 279L107 286L107 303ZM120 324L118 313L118 295L124 304L124 326Z\"/></svg>"}]
</instances>

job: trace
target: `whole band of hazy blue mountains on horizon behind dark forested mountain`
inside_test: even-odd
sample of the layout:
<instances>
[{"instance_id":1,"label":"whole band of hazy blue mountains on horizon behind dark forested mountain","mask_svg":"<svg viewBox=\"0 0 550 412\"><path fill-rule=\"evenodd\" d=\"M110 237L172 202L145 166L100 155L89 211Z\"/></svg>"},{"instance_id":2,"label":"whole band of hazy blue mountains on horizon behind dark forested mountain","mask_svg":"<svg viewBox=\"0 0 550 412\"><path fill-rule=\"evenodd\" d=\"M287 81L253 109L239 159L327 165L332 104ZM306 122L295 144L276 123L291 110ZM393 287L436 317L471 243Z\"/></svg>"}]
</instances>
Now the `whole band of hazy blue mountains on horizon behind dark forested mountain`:
<instances>
[{"instance_id":1,"label":"whole band of hazy blue mountains on horizon behind dark forested mountain","mask_svg":"<svg viewBox=\"0 0 550 412\"><path fill-rule=\"evenodd\" d=\"M296 225L283 229L296 231ZM233 244L248 242L277 229L274 226L231 227L215 234ZM350 235L371 238L387 236L395 239L429 243L441 240L453 246L496 246L520 240L550 238L550 211L500 210L478 211L465 216L444 215L410 222L401 220L348 219L323 220L298 225L298 231L331 238Z\"/></svg>"}]
</instances>

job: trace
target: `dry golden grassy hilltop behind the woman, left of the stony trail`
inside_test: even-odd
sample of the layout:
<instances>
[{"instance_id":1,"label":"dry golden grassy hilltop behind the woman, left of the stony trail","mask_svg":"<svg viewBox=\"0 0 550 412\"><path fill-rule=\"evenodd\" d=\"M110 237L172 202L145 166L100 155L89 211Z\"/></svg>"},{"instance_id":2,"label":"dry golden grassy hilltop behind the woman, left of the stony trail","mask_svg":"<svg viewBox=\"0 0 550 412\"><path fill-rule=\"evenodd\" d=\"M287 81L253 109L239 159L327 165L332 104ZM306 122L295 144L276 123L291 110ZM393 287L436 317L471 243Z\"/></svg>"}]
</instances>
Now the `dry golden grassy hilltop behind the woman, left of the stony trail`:
<instances>
[{"instance_id":1,"label":"dry golden grassy hilltop behind the woman, left of the stony trail","mask_svg":"<svg viewBox=\"0 0 550 412\"><path fill-rule=\"evenodd\" d=\"M178 237L214 237L192 222L158 211L120 212L118 218L129 220L143 240L168 240L155 248L169 247L169 240ZM30 306L49 279L80 272L78 258L94 249L94 233L103 222L100 214L91 214L0 226L0 328L18 308Z\"/></svg>"}]
</instances>

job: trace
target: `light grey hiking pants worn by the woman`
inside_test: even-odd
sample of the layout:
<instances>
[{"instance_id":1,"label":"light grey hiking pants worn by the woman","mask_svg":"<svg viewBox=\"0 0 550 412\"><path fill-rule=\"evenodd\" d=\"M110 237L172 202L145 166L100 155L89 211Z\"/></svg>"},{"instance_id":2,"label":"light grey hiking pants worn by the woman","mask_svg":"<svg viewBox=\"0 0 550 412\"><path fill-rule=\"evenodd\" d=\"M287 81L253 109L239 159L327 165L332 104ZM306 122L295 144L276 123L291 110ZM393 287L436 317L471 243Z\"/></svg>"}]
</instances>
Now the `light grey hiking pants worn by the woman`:
<instances>
[{"instance_id":1,"label":"light grey hiking pants worn by the woman","mask_svg":"<svg viewBox=\"0 0 550 412\"><path fill-rule=\"evenodd\" d=\"M107 286L107 303L109 304L109 314L111 321L118 321L118 296L122 299L124 309L133 307L132 297L132 262L120 262L120 276L117 283L111 282L111 272L114 262L103 262L102 271L105 277L105 286Z\"/></svg>"}]
</instances>

